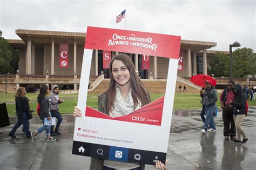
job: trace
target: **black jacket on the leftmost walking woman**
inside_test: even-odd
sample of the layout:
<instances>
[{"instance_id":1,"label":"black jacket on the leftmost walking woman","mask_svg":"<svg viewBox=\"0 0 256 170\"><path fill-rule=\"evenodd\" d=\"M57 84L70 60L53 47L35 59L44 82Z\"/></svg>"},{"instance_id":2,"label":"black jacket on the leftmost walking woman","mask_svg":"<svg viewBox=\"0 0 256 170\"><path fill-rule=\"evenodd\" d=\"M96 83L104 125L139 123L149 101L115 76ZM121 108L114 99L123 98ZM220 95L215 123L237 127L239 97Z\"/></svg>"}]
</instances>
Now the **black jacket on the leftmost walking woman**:
<instances>
[{"instance_id":1,"label":"black jacket on the leftmost walking woman","mask_svg":"<svg viewBox=\"0 0 256 170\"><path fill-rule=\"evenodd\" d=\"M15 98L16 111L19 115L23 116L23 113L29 113L29 99L22 96Z\"/></svg>"}]
</instances>

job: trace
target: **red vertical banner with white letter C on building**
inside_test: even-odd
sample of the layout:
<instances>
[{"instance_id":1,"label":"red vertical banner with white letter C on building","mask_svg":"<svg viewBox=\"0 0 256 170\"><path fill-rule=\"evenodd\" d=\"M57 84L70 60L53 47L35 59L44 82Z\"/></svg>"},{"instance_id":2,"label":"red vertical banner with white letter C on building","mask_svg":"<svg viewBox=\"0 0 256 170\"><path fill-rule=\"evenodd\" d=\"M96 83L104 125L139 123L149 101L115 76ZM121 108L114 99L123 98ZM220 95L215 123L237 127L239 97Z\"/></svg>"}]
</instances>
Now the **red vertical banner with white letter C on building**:
<instances>
[{"instance_id":1,"label":"red vertical banner with white letter C on building","mask_svg":"<svg viewBox=\"0 0 256 170\"><path fill-rule=\"evenodd\" d=\"M59 67L69 67L69 44L59 44Z\"/></svg>"}]
</instances>

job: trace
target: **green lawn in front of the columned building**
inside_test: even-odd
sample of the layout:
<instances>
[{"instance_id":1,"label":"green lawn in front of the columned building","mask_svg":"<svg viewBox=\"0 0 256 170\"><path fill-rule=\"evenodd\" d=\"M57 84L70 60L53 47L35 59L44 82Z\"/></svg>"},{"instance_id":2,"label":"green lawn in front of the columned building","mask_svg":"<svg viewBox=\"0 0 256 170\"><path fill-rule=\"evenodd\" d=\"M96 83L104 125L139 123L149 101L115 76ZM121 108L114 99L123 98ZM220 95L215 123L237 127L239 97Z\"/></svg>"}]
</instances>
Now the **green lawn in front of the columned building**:
<instances>
[{"instance_id":1,"label":"green lawn in front of the columned building","mask_svg":"<svg viewBox=\"0 0 256 170\"><path fill-rule=\"evenodd\" d=\"M38 93L26 93L26 96L30 99L30 107L36 111ZM0 103L6 102L9 115L15 115L15 94L14 93L0 93ZM87 95L87 106L97 109L98 108L98 94L89 93ZM150 93L151 101L154 101L164 96L163 93ZM220 93L218 93L220 96ZM78 94L59 94L60 99L64 99L65 102L60 104L60 113L72 113L74 106L77 105ZM218 107L220 107L219 101L217 101ZM255 100L249 100L249 106L256 106ZM198 93L176 93L174 96L174 110L184 110L191 108L201 108L200 96ZM36 114L36 113L34 113Z\"/></svg>"}]
</instances>

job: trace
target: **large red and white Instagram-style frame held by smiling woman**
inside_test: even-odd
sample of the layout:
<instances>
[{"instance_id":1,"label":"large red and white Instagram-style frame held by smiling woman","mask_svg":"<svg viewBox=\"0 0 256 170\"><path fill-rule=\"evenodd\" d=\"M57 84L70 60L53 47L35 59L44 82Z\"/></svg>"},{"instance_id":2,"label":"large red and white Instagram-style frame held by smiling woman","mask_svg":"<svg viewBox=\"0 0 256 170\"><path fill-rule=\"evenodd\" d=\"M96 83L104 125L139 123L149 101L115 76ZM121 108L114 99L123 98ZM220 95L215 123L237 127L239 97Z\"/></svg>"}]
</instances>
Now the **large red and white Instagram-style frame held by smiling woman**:
<instances>
[{"instance_id":1,"label":"large red and white Instagram-style frame held by smiling woman","mask_svg":"<svg viewBox=\"0 0 256 170\"><path fill-rule=\"evenodd\" d=\"M154 165L165 162L177 79L180 36L88 27L80 78L73 154ZM166 57L165 97L123 117L111 118L86 106L93 49Z\"/></svg>"}]
</instances>

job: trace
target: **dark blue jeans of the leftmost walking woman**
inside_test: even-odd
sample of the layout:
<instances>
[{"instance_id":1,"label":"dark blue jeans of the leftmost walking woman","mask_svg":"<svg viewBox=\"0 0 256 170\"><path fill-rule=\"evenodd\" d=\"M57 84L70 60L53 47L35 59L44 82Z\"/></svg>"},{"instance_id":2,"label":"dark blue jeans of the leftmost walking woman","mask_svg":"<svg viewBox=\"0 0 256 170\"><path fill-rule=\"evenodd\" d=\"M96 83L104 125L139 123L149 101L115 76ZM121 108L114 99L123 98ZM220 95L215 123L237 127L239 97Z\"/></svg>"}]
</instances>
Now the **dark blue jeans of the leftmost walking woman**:
<instances>
[{"instance_id":1,"label":"dark blue jeans of the leftmost walking woman","mask_svg":"<svg viewBox=\"0 0 256 170\"><path fill-rule=\"evenodd\" d=\"M21 117L21 115L19 115L19 113L16 111L16 115L18 117L18 121L14 125L14 127L12 127L12 130L11 130L10 134L15 134L16 130L18 129L18 127L23 124L26 136L29 137L31 134L30 134L30 131L29 131L29 120L26 117L26 113L23 112L23 116Z\"/></svg>"}]
</instances>

